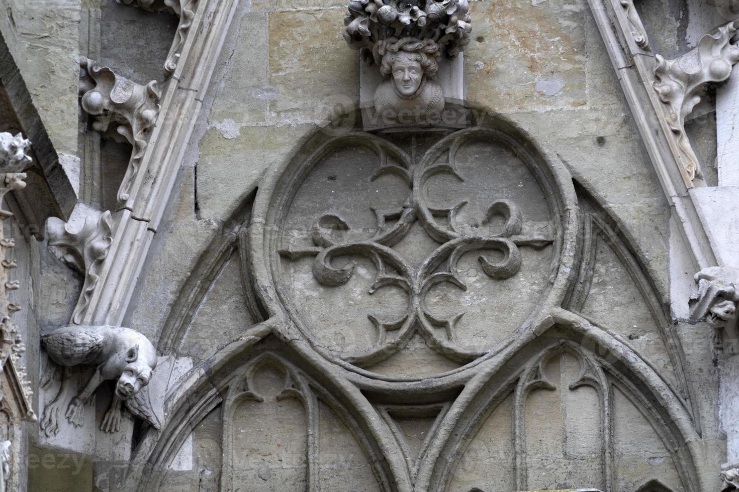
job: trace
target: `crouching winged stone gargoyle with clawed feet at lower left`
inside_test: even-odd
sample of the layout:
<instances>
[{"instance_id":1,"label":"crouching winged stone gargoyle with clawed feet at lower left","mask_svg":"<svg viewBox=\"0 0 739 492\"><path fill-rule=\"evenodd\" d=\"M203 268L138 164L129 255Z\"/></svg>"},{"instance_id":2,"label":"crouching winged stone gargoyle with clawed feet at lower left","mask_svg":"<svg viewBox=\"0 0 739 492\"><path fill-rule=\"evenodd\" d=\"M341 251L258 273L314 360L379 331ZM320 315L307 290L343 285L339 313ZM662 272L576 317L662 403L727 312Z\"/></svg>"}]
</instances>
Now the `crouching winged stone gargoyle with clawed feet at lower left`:
<instances>
[{"instance_id":1,"label":"crouching winged stone gargoyle with clawed feet at lower left","mask_svg":"<svg viewBox=\"0 0 739 492\"><path fill-rule=\"evenodd\" d=\"M69 326L41 336L41 344L52 361L62 367L95 367L84 389L69 401L65 413L69 423L81 426L84 405L103 381L115 379L112 402L103 417L101 430L118 432L121 403L125 403L133 415L160 429L157 414L151 408L149 388L146 387L152 371L157 367L157 352L146 336L131 328ZM59 432L61 398L66 393L65 385L68 382L68 377L61 378L59 392L44 408L41 430L47 436Z\"/></svg>"}]
</instances>

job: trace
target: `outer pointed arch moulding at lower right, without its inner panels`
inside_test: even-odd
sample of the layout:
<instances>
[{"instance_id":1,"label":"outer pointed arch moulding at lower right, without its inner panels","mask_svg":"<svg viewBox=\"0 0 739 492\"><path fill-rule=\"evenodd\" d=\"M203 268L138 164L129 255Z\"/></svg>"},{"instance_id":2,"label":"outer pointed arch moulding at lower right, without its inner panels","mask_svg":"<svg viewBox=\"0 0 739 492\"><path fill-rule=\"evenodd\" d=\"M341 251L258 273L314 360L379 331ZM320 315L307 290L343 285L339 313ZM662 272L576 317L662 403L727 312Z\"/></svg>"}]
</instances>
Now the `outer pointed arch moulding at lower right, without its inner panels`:
<instances>
[{"instance_id":1,"label":"outer pointed arch moulding at lower right, without its inner panels","mask_svg":"<svg viewBox=\"0 0 739 492\"><path fill-rule=\"evenodd\" d=\"M480 373L466 384L430 446L437 453L427 456L420 467L423 486L428 490L447 490L458 457L491 412L516 392L522 373L531 364L537 364L537 356L541 358L553 350L578 350L589 360L597 361L610 385L636 402L675 460L684 490L702 491L693 461L699 451L699 437L692 417L681 398L650 364L612 333L569 311L553 311L536 333L486 361ZM514 435L512 430L511 438Z\"/></svg>"}]
</instances>

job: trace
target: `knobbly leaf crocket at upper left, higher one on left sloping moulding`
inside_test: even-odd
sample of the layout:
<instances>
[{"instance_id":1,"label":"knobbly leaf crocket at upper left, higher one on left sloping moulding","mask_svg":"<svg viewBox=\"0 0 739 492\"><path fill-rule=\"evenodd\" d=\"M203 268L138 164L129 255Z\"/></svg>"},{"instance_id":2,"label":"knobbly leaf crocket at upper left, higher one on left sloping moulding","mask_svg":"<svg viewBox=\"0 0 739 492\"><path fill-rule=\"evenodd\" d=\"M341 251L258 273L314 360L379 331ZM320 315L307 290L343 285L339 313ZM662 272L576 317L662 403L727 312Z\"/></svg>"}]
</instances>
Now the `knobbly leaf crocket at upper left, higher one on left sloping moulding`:
<instances>
[{"instance_id":1,"label":"knobbly leaf crocket at upper left, higher one on left sloping moulding","mask_svg":"<svg viewBox=\"0 0 739 492\"><path fill-rule=\"evenodd\" d=\"M89 58L79 57L83 72L80 80L81 105L94 117L92 128L104 132L111 124L133 146L129 167L118 188L118 201L125 202L146 150L149 130L159 113L160 91L156 80L142 86L115 74L107 66L98 66Z\"/></svg>"}]
</instances>

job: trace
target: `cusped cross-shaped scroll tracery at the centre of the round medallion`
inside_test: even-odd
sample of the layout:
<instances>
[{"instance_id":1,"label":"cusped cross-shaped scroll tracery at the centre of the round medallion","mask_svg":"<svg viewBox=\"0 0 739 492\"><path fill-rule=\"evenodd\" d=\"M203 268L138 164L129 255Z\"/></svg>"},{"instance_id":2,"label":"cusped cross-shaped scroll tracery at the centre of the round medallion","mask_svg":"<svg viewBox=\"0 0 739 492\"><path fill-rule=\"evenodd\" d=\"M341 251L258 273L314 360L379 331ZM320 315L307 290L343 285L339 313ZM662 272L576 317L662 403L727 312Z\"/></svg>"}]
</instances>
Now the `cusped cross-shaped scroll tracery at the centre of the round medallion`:
<instances>
[{"instance_id":1,"label":"cusped cross-shaped scroll tracery at the centre of the round medallion","mask_svg":"<svg viewBox=\"0 0 739 492\"><path fill-rule=\"evenodd\" d=\"M443 177L464 186L475 178L463 176L457 161L460 149L480 138L484 136L460 135L429 150L415 166L407 164L399 149L373 142L370 148L378 159L378 172L372 181L378 183L384 176L399 178L409 188L405 198L398 197L403 200L402 206L372 208L376 226L369 237L358 235L360 224L350 224L340 213L322 213L310 227L313 246L288 246L279 250L287 260L314 257L313 277L327 288L345 285L355 274L357 262L352 260L339 266L339 258L367 258L375 268L369 294L394 288L407 296L407 307L398 316L368 314L377 331L377 342L369 350L345 353L342 357L345 361L372 364L400 350L415 333L420 333L426 344L454 361L466 362L483 355L487 347L466 347L458 336L457 324L465 312L435 314L427 305L429 292L440 285L453 285L466 291L468 285L460 273L460 260L466 254L475 254L481 271L490 282L495 282L514 277L520 270L520 248L542 249L554 243L551 224L530 223L531 218L525 217L511 198L491 195L486 198L489 204L483 208L483 216L477 219L467 216L464 220L460 220L460 214L471 207L467 199L447 206L429 203L429 182ZM479 204L474 209L479 209ZM436 246L425 259L414 264L394 246L408 237L416 223ZM491 259L493 254L497 259ZM390 332L395 332L394 336L389 336Z\"/></svg>"}]
</instances>

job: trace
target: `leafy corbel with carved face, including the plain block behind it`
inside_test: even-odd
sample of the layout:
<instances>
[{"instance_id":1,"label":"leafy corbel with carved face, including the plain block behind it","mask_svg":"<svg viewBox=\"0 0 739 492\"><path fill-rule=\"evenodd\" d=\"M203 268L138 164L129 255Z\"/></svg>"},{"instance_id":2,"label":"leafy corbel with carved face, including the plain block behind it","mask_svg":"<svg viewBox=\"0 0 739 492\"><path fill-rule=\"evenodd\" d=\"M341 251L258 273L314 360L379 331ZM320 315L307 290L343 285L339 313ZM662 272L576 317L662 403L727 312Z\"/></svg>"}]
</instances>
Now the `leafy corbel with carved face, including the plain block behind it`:
<instances>
[{"instance_id":1,"label":"leafy corbel with carved face, including the plain block behind it","mask_svg":"<svg viewBox=\"0 0 739 492\"><path fill-rule=\"evenodd\" d=\"M464 127L467 0L351 0L344 24L344 40L359 52L364 129Z\"/></svg>"}]
</instances>

